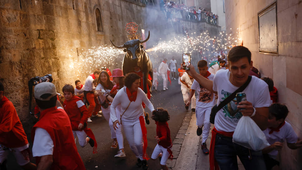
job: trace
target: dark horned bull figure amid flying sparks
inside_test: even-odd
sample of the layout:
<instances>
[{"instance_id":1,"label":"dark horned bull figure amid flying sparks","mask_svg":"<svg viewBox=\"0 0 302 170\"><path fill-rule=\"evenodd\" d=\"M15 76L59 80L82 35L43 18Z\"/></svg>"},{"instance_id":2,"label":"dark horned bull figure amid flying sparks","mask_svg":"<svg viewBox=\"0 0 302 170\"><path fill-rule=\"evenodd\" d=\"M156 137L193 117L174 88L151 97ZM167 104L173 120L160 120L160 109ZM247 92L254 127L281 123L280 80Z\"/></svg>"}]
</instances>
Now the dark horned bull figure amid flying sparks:
<instances>
[{"instance_id":1,"label":"dark horned bull figure amid flying sparks","mask_svg":"<svg viewBox=\"0 0 302 170\"><path fill-rule=\"evenodd\" d=\"M115 45L111 40L110 42L112 45L116 48L125 48L124 52L124 59L122 63L122 70L124 75L127 73L131 73L134 71L134 67L138 66L140 67L141 71L143 72L143 83L144 83L144 92L147 93L146 83L147 83L147 78L148 74L150 74L151 78L153 79L153 68L152 68L152 62L146 53L146 51L143 49L143 45L141 45L144 42L147 42L150 38L150 31L148 37L144 41L140 41L139 39L134 39L134 40L129 40L124 43L122 46L117 46Z\"/></svg>"}]
</instances>

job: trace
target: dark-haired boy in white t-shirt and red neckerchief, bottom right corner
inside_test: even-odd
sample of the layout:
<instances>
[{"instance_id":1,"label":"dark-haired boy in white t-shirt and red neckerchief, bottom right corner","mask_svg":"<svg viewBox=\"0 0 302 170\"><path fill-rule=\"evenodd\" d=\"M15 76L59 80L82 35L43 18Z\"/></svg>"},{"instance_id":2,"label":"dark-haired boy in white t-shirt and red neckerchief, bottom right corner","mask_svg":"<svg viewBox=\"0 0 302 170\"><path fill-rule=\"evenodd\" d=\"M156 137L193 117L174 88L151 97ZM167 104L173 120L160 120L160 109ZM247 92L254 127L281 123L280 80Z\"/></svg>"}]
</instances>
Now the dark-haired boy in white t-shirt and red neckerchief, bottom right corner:
<instances>
[{"instance_id":1,"label":"dark-haired boy in white t-shirt and red neckerchief, bottom right corner","mask_svg":"<svg viewBox=\"0 0 302 170\"><path fill-rule=\"evenodd\" d=\"M273 103L269 107L269 112L270 115L267 120L268 128L263 132L270 146L262 150L267 170L279 164L275 159L278 151L283 147L285 139L290 149L302 147L302 140L298 141L298 136L294 129L285 121L289 112L287 107L280 103Z\"/></svg>"}]
</instances>

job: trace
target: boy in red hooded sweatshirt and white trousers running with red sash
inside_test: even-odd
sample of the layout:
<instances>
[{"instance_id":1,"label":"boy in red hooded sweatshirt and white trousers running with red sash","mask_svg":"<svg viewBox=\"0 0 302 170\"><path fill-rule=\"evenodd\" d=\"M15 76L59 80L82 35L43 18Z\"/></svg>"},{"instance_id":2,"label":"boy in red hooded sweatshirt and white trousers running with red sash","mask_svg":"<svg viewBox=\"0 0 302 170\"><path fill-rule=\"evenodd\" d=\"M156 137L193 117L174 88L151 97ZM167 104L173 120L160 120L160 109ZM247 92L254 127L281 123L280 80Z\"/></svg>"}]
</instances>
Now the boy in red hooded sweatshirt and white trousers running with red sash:
<instances>
[{"instance_id":1,"label":"boy in red hooded sweatshirt and white trousers running with red sash","mask_svg":"<svg viewBox=\"0 0 302 170\"><path fill-rule=\"evenodd\" d=\"M65 97L63 103L73 132L73 137L78 137L81 147L85 147L87 143L93 148L93 153L96 153L97 143L91 129L87 128L88 110L81 98L74 95L74 88L70 84L66 84L62 89ZM88 136L88 137L87 137Z\"/></svg>"}]
</instances>

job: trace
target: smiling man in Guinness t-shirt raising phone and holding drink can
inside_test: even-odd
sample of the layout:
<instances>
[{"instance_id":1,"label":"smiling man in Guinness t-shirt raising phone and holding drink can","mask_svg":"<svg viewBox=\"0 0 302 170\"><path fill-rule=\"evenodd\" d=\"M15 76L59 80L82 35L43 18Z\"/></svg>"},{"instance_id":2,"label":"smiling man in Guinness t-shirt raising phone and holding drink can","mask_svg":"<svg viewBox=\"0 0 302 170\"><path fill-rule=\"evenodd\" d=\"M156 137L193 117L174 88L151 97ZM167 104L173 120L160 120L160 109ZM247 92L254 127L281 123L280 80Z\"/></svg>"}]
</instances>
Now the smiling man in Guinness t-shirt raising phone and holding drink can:
<instances>
[{"instance_id":1,"label":"smiling man in Guinness t-shirt raising phone and holding drink can","mask_svg":"<svg viewBox=\"0 0 302 170\"><path fill-rule=\"evenodd\" d=\"M217 105L247 81L253 67L251 52L243 46L233 47L228 54L228 63L229 69L219 70L213 81L196 73L192 65L189 66L190 70L187 70L202 87L218 94ZM238 155L246 169L265 169L262 152L233 143L232 134L242 116L250 116L261 130L267 128L268 107L271 103L268 86L261 79L252 76L243 93L246 94L246 101L238 105L231 101L215 116L210 146L210 168L216 168L218 164L221 169L238 169Z\"/></svg>"}]
</instances>

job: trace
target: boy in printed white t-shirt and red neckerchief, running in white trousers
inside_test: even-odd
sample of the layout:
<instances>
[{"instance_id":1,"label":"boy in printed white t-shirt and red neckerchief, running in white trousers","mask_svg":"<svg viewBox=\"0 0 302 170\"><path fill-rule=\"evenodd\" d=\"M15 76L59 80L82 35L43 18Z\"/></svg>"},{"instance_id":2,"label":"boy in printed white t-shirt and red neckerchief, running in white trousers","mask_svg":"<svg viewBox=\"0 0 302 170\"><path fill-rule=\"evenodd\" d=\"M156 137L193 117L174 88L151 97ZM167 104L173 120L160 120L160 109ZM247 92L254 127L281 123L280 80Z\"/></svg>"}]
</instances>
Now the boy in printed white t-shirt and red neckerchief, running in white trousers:
<instances>
[{"instance_id":1,"label":"boy in printed white t-shirt and red neckerchief, running in white trousers","mask_svg":"<svg viewBox=\"0 0 302 170\"><path fill-rule=\"evenodd\" d=\"M211 74L207 67L207 61L206 60L200 60L197 63L197 67L199 70L199 74L203 77L213 80L214 74ZM214 93L207 90L206 88L202 87L196 80L194 80L191 92L189 96L189 100L186 104L186 106L189 106L191 103L191 98L193 95L195 95L195 90L197 90L197 93L199 94L196 100L196 125L197 130L196 133L198 136L202 134L202 152L204 154L209 154L209 150L207 149L207 138L209 137L211 123L210 123L210 114L211 109L215 105L215 98ZM202 131L202 126L204 126Z\"/></svg>"}]
</instances>

